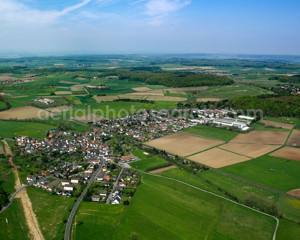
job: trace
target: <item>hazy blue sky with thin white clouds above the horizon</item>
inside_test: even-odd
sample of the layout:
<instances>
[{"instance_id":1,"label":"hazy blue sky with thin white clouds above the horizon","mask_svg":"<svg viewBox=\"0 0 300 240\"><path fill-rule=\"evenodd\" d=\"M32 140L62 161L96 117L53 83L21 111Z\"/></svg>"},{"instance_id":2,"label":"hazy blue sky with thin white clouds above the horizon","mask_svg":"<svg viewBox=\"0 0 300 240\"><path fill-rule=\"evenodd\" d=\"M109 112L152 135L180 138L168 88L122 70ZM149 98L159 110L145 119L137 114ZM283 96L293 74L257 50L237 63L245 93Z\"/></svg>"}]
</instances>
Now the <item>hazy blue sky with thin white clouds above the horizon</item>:
<instances>
[{"instance_id":1,"label":"hazy blue sky with thin white clouds above the horizon","mask_svg":"<svg viewBox=\"0 0 300 240\"><path fill-rule=\"evenodd\" d=\"M0 0L0 50L300 55L300 1Z\"/></svg>"}]
</instances>

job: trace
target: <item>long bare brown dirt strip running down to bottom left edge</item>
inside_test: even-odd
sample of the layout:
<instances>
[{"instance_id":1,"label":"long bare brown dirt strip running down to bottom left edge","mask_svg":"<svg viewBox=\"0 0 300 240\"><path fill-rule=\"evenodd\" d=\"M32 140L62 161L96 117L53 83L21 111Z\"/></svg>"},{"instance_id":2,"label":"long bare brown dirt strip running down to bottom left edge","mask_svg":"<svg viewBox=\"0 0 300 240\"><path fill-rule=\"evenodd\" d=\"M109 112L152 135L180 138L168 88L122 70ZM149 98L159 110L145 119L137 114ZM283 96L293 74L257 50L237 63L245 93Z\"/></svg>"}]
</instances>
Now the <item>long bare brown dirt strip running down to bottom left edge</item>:
<instances>
[{"instance_id":1,"label":"long bare brown dirt strip running down to bottom left edge","mask_svg":"<svg viewBox=\"0 0 300 240\"><path fill-rule=\"evenodd\" d=\"M13 164L12 153L10 151L10 148L9 148L7 142L5 140L2 140L2 141L4 142L6 154L10 154L10 157L9 157L8 160L9 160L10 164L13 166L13 174L15 175L15 179L16 179L15 188L19 189L22 185L21 185L21 181L20 181L20 178L19 178L19 175L18 175L18 168L17 168L17 166L15 166ZM28 233L29 239L33 239L33 240L41 240L42 239L42 240L45 240L45 238L44 238L44 236L41 232L40 226L38 224L38 219L36 218L35 213L33 212L32 204L31 204L30 199L27 195L26 189L21 190L16 195L16 197L21 199L21 202L22 202L22 205L23 205L24 214L25 214L25 217L26 217L26 224L27 224L28 229L29 229L29 233Z\"/></svg>"}]
</instances>

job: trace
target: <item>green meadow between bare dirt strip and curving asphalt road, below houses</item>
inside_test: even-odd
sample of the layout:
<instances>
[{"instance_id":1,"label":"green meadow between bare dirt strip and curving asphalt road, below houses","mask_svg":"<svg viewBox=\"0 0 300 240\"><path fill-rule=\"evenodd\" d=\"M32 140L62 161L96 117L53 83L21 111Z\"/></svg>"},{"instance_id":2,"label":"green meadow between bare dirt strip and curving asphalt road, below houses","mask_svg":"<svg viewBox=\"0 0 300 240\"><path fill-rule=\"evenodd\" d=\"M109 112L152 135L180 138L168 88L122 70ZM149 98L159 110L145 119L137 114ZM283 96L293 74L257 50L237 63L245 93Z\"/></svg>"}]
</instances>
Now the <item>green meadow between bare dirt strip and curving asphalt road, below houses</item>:
<instances>
[{"instance_id":1,"label":"green meadow between bare dirt strip and curving asphalt road, below houses","mask_svg":"<svg viewBox=\"0 0 300 240\"><path fill-rule=\"evenodd\" d=\"M27 187L26 190L45 239L64 238L63 220L68 219L69 209L75 204L74 198L50 195L49 191L36 187Z\"/></svg>"}]
</instances>

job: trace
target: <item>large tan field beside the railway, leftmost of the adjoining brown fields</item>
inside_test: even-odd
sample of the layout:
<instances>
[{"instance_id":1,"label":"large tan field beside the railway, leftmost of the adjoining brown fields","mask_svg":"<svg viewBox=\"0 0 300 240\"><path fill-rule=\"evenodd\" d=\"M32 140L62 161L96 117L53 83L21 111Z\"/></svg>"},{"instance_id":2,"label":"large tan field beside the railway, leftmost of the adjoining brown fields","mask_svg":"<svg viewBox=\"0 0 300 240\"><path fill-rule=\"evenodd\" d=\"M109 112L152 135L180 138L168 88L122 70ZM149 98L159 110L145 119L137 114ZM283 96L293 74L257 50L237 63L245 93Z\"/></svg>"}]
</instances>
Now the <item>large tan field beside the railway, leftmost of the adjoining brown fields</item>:
<instances>
[{"instance_id":1,"label":"large tan field beside the railway, leftmost of the adjoining brown fields","mask_svg":"<svg viewBox=\"0 0 300 240\"><path fill-rule=\"evenodd\" d=\"M147 145L166 150L169 153L179 156L188 156L222 143L224 142L174 133L163 138L149 141Z\"/></svg>"}]
</instances>

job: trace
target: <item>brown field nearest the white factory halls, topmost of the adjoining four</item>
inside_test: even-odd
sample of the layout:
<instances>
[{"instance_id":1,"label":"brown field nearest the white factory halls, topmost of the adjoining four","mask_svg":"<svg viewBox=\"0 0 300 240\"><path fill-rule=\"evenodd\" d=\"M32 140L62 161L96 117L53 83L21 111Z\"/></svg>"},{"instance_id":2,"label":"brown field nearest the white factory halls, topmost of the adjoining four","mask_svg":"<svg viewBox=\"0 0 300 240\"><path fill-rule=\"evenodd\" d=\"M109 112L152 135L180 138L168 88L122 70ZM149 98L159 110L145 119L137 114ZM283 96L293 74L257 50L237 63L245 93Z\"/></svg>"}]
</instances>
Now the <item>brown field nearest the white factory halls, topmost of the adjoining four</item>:
<instances>
[{"instance_id":1,"label":"brown field nearest the white factory halls, topmost of the adjoining four","mask_svg":"<svg viewBox=\"0 0 300 240\"><path fill-rule=\"evenodd\" d=\"M288 135L289 132L252 131L247 134L240 133L230 142L284 144Z\"/></svg>"}]
</instances>

